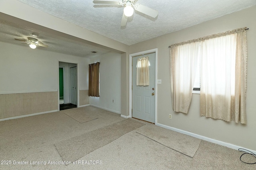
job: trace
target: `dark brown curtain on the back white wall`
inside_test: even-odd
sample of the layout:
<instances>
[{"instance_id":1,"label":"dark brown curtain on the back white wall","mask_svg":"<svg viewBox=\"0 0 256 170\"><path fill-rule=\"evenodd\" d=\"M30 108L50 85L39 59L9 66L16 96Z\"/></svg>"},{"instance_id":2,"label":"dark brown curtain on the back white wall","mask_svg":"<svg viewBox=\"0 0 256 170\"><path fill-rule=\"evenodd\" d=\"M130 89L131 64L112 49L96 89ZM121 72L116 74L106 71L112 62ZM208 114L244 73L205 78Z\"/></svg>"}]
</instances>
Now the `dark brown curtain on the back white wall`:
<instances>
[{"instance_id":1,"label":"dark brown curtain on the back white wall","mask_svg":"<svg viewBox=\"0 0 256 170\"><path fill-rule=\"evenodd\" d=\"M99 71L100 63L89 64L89 96L100 97L99 91Z\"/></svg>"}]
</instances>

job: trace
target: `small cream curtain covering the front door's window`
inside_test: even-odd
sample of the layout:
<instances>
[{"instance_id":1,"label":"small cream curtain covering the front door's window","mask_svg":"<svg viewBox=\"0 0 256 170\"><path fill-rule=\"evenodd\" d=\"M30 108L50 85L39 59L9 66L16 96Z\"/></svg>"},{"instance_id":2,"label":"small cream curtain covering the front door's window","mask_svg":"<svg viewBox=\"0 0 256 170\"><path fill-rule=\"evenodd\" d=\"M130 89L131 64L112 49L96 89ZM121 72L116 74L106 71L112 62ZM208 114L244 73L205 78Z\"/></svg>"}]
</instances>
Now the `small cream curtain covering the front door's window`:
<instances>
[{"instance_id":1,"label":"small cream curtain covering the front door's window","mask_svg":"<svg viewBox=\"0 0 256 170\"><path fill-rule=\"evenodd\" d=\"M137 86L149 86L149 60L147 57L137 59Z\"/></svg>"}]
</instances>

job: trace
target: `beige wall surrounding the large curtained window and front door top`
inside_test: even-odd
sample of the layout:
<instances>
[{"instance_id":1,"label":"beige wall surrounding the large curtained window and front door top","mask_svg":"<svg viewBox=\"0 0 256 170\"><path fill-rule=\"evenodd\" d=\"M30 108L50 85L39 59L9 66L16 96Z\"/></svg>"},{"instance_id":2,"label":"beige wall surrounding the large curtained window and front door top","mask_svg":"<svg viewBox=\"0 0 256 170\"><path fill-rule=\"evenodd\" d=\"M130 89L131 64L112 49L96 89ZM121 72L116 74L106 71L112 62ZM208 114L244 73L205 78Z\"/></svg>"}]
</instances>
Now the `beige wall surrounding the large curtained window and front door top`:
<instances>
[{"instance_id":1,"label":"beige wall surrounding the large curtained window and front door top","mask_svg":"<svg viewBox=\"0 0 256 170\"><path fill-rule=\"evenodd\" d=\"M210 20L174 33L163 35L148 41L130 46L129 53L137 53L158 48L158 123L174 127L204 137L216 139L233 145L256 150L256 6L235 12L214 20ZM175 113L172 110L170 94L170 54L168 46L190 39L204 37L228 30L248 27L248 63L247 63L247 92L246 111L247 124L226 122L200 116L200 95L193 94L188 114ZM168 119L172 114L172 119Z\"/></svg>"}]
</instances>

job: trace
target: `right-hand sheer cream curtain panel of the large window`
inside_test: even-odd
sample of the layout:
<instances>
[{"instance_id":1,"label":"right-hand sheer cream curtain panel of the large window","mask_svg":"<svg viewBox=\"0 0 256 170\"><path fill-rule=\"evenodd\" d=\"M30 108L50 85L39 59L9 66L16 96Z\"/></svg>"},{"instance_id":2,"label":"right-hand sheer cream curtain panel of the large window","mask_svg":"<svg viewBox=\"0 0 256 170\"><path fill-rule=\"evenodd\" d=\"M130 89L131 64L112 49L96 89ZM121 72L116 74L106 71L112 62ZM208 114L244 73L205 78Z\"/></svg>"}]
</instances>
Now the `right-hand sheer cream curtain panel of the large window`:
<instances>
[{"instance_id":1,"label":"right-hand sheer cream curtain panel of the large window","mask_svg":"<svg viewBox=\"0 0 256 170\"><path fill-rule=\"evenodd\" d=\"M244 28L202 41L202 116L246 123L246 49Z\"/></svg>"}]
</instances>

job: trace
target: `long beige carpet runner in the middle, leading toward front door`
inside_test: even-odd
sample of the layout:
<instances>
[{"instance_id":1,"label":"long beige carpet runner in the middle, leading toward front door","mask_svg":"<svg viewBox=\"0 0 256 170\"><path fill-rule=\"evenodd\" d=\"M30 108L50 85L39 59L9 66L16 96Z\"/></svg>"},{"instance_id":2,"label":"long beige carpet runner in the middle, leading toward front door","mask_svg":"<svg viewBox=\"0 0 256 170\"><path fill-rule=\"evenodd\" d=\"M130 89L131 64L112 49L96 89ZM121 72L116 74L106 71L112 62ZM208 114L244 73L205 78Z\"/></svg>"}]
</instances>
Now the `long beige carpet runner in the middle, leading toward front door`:
<instances>
[{"instance_id":1,"label":"long beige carpet runner in the middle, leading toward front door","mask_svg":"<svg viewBox=\"0 0 256 170\"><path fill-rule=\"evenodd\" d=\"M73 162L143 125L145 124L132 119L125 119L112 125L61 141L56 143L55 147L63 161Z\"/></svg>"}]
</instances>

